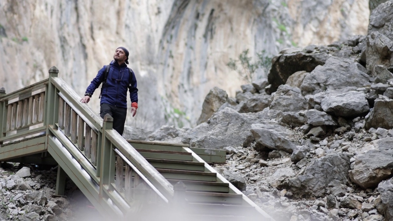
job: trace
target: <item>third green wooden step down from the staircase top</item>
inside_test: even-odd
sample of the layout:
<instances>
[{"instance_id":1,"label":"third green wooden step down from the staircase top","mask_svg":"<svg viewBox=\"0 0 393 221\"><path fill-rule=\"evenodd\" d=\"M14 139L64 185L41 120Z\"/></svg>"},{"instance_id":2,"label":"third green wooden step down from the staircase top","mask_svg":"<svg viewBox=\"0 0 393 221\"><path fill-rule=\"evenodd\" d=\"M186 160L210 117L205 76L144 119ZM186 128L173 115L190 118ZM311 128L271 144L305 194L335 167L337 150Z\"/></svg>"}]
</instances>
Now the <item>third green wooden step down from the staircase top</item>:
<instances>
[{"instance_id":1,"label":"third green wooden step down from the staircase top","mask_svg":"<svg viewBox=\"0 0 393 221\"><path fill-rule=\"evenodd\" d=\"M193 162L184 160L164 160L164 159L152 159L146 158L156 169L180 169L180 170L191 170L191 171L205 171L205 164L203 162Z\"/></svg>"}]
</instances>

